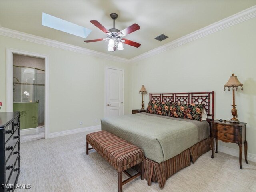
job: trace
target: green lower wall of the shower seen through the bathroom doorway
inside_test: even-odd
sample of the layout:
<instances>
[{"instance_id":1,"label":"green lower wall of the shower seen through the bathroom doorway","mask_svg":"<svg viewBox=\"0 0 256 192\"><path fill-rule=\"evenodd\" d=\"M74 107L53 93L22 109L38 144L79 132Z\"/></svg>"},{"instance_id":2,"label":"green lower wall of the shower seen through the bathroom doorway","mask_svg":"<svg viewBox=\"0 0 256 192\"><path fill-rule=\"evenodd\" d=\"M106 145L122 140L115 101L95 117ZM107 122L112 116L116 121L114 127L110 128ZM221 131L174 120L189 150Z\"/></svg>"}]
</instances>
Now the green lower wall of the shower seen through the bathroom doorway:
<instances>
[{"instance_id":1,"label":"green lower wall of the shower seen through the bathroom doorway","mask_svg":"<svg viewBox=\"0 0 256 192\"><path fill-rule=\"evenodd\" d=\"M20 112L20 129L38 127L38 102L13 103L13 111Z\"/></svg>"}]
</instances>

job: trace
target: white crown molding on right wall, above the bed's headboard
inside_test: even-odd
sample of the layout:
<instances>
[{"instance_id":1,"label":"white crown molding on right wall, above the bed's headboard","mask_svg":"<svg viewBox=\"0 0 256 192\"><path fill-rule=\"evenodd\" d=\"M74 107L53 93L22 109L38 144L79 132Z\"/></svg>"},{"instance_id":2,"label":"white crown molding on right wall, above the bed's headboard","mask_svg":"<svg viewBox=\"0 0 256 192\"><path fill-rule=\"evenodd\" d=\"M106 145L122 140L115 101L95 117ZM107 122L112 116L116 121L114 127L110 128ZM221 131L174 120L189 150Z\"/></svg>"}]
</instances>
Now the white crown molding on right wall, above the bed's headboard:
<instances>
[{"instance_id":1,"label":"white crown molding on right wall, above the bed's headboard","mask_svg":"<svg viewBox=\"0 0 256 192\"><path fill-rule=\"evenodd\" d=\"M246 10L243 10L241 12L238 12L237 14L234 14L230 17L224 18L218 22L215 22L213 24L210 24L204 28L201 28L197 31L194 31L188 35L185 35L181 38L178 38L172 42L169 42L163 46L160 46L158 48L155 48L153 50L150 50L146 53L143 53L139 56L136 56L129 60L129 62L138 62L140 60L143 60L145 58L149 58L153 55L165 52L167 50L176 48L178 46L181 46L183 44L186 44L188 42L194 41L196 39L202 38L206 35L212 34L214 32L217 32L219 30L228 28L232 25L238 24L240 22L249 20L251 18L256 17L256 6L252 6Z\"/></svg>"}]
</instances>

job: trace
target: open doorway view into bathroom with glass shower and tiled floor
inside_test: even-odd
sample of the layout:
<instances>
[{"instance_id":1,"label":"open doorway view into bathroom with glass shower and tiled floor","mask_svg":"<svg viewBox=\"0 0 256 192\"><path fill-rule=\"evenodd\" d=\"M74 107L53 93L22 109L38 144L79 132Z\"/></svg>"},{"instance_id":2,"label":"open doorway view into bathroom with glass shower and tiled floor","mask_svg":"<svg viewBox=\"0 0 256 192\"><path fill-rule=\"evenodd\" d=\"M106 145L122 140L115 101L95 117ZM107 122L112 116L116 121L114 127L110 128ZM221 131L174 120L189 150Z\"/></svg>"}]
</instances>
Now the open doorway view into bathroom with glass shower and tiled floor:
<instances>
[{"instance_id":1,"label":"open doorway view into bathroom with glass shower and tiled floor","mask_svg":"<svg viewBox=\"0 0 256 192\"><path fill-rule=\"evenodd\" d=\"M21 142L45 138L45 59L13 54L13 111Z\"/></svg>"}]
</instances>

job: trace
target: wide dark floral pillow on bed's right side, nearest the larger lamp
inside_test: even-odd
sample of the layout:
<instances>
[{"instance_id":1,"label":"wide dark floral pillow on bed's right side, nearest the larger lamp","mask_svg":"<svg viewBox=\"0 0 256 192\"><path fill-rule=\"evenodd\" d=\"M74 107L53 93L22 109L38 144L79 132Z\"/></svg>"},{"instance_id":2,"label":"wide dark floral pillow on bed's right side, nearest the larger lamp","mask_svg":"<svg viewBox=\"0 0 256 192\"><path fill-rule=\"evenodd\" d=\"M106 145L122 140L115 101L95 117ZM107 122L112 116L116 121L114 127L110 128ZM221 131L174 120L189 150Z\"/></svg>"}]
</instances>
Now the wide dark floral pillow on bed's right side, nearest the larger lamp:
<instances>
[{"instance_id":1,"label":"wide dark floral pillow on bed's right side, nearest the larger lamp","mask_svg":"<svg viewBox=\"0 0 256 192\"><path fill-rule=\"evenodd\" d=\"M171 103L168 116L202 121L202 111L204 110L204 105L205 104Z\"/></svg>"}]
</instances>

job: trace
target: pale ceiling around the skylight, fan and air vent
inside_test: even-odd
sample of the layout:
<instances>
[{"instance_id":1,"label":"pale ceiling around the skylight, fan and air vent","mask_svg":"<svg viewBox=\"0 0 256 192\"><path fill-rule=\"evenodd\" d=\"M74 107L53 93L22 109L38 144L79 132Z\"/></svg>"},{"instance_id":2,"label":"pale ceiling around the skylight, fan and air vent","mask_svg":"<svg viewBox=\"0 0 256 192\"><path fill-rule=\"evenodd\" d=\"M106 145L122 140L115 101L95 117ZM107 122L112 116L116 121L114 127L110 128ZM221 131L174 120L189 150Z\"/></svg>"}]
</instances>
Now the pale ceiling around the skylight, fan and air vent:
<instances>
[{"instance_id":1,"label":"pale ceiling around the skylight, fan and air vent","mask_svg":"<svg viewBox=\"0 0 256 192\"><path fill-rule=\"evenodd\" d=\"M0 26L130 59L254 5L256 0L0 0ZM84 43L81 37L42 26L42 12L91 29L86 40L105 38L90 20L109 29L110 13L115 12L119 30L140 26L125 38L142 45L124 44L124 50L108 52L106 42ZM169 38L154 39L162 33Z\"/></svg>"}]
</instances>

